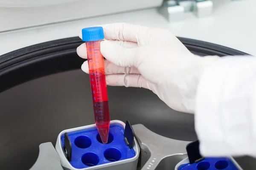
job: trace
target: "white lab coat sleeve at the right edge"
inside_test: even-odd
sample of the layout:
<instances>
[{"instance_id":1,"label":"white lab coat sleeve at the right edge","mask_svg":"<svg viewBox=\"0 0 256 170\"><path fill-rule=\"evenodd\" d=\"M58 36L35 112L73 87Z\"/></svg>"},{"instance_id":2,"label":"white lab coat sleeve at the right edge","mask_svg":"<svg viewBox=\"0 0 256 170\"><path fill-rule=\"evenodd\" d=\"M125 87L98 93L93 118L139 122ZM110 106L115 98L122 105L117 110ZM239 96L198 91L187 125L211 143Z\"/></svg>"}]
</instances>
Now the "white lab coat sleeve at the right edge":
<instances>
[{"instance_id":1,"label":"white lab coat sleeve at the right edge","mask_svg":"<svg viewBox=\"0 0 256 170\"><path fill-rule=\"evenodd\" d=\"M204 71L195 99L202 156L256 157L256 57L221 57Z\"/></svg>"}]
</instances>

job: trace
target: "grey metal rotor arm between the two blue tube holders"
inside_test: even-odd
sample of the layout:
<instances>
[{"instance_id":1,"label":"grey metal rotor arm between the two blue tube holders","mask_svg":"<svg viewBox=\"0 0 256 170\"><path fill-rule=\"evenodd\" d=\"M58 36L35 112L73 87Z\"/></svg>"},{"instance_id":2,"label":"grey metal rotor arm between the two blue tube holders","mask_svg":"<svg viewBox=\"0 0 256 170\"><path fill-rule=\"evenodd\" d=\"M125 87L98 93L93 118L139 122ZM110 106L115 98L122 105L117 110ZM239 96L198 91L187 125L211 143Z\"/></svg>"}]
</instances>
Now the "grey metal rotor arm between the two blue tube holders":
<instances>
[{"instance_id":1,"label":"grey metal rotor arm between the two blue tube holders","mask_svg":"<svg viewBox=\"0 0 256 170\"><path fill-rule=\"evenodd\" d=\"M141 124L133 125L133 129L141 148L138 169L172 170L186 158L186 145L190 142L160 136Z\"/></svg>"}]
</instances>

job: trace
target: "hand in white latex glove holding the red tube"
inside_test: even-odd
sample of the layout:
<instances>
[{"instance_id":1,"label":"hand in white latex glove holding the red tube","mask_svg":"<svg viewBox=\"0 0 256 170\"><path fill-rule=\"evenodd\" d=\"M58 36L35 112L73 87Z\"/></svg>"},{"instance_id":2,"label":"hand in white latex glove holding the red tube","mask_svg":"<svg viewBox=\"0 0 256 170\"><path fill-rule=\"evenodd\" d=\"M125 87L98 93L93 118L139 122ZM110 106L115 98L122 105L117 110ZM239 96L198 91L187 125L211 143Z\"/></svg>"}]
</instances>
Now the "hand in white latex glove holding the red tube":
<instances>
[{"instance_id":1,"label":"hand in white latex glove holding the red tube","mask_svg":"<svg viewBox=\"0 0 256 170\"><path fill-rule=\"evenodd\" d=\"M192 54L170 31L128 23L103 25L101 52L107 85L153 91L170 108L194 113L198 81L218 57ZM81 38L81 33L79 35ZM77 54L87 58L86 45ZM81 66L89 73L87 61Z\"/></svg>"}]
</instances>

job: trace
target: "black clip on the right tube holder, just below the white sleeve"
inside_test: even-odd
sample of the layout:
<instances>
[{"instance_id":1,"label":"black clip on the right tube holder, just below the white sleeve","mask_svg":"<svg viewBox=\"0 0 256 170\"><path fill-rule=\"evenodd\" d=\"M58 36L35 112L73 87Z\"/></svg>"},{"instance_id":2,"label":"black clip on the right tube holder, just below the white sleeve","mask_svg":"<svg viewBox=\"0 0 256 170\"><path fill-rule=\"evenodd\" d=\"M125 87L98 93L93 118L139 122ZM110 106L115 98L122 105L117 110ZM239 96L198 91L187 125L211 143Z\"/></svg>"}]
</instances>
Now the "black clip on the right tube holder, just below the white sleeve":
<instances>
[{"instance_id":1,"label":"black clip on the right tube holder, just below the white sleeve","mask_svg":"<svg viewBox=\"0 0 256 170\"><path fill-rule=\"evenodd\" d=\"M199 141L191 142L187 144L186 151L189 157L189 164L193 164L195 162L199 162L204 160L204 157L201 156L199 152Z\"/></svg>"}]
</instances>

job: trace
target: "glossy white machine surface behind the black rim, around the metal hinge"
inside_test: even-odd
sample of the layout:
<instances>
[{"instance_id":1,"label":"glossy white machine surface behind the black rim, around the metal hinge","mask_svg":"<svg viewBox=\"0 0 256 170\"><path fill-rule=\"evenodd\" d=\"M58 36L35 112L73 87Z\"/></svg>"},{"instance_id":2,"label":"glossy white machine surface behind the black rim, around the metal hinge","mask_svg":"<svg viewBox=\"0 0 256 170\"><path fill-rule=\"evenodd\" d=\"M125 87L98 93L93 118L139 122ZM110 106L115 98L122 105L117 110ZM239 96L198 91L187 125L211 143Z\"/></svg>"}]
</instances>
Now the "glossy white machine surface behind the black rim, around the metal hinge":
<instances>
[{"instance_id":1,"label":"glossy white machine surface behind the black rim, around the metal hinge","mask_svg":"<svg viewBox=\"0 0 256 170\"><path fill-rule=\"evenodd\" d=\"M79 35L81 28L104 23L128 22L171 30L176 36L203 40L256 55L256 0L212 0L213 14L169 23L157 9L131 11L66 23L0 33L0 55L34 45Z\"/></svg>"}]
</instances>

